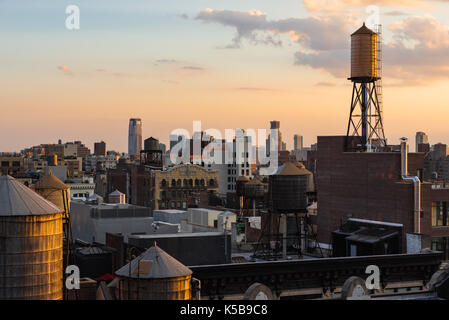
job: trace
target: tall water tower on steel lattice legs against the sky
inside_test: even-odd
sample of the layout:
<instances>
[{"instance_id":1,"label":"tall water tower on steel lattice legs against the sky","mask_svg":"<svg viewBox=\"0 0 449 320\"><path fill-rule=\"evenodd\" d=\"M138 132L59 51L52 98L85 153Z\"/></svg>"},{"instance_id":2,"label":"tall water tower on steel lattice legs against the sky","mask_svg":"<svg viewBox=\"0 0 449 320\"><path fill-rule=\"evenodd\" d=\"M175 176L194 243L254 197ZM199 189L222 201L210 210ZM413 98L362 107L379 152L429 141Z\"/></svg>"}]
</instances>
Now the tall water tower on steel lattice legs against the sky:
<instances>
[{"instance_id":1,"label":"tall water tower on steel lattice legs against the sky","mask_svg":"<svg viewBox=\"0 0 449 320\"><path fill-rule=\"evenodd\" d=\"M351 110L346 151L377 151L386 145L382 123L380 26L377 32L365 26L351 35Z\"/></svg>"}]
</instances>

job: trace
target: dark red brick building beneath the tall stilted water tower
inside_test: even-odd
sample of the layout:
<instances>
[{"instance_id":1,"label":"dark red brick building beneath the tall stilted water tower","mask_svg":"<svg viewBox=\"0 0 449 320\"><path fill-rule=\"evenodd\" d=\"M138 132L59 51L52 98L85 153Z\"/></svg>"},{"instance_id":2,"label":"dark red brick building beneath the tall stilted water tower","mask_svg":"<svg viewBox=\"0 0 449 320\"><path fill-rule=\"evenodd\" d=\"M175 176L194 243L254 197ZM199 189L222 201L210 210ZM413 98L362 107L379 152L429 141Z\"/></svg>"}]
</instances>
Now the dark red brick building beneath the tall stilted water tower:
<instances>
[{"instance_id":1,"label":"dark red brick building beneath the tall stilted water tower","mask_svg":"<svg viewBox=\"0 0 449 320\"><path fill-rule=\"evenodd\" d=\"M349 218L402 224L402 247L414 232L414 185L401 178L400 152L344 152L344 136L318 137L318 242ZM408 153L408 174L423 177L424 153ZM448 254L449 189L421 184L421 234ZM438 225L440 224L440 225Z\"/></svg>"}]
</instances>

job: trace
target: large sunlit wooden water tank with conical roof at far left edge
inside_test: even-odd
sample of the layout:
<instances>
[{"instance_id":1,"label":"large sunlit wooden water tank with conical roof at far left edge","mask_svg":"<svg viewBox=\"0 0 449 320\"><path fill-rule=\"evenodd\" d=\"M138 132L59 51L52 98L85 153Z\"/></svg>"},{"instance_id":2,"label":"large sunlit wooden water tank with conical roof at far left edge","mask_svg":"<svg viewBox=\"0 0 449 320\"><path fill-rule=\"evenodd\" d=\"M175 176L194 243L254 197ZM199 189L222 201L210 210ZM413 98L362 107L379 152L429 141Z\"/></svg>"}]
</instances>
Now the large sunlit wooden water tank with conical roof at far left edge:
<instances>
[{"instance_id":1,"label":"large sunlit wooden water tank with conical roof at far left edge","mask_svg":"<svg viewBox=\"0 0 449 320\"><path fill-rule=\"evenodd\" d=\"M62 299L62 210L0 176L0 300Z\"/></svg>"}]
</instances>

